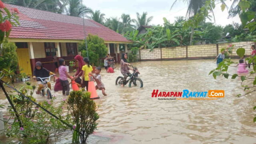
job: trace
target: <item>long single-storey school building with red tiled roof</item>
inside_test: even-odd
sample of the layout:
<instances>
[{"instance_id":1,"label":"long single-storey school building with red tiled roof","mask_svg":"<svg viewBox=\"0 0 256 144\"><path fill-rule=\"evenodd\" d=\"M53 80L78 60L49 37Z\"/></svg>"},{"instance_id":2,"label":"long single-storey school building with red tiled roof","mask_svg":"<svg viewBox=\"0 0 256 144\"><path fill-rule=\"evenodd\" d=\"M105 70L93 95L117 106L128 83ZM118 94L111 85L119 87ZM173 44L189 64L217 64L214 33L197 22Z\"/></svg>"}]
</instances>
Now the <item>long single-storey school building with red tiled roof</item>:
<instances>
[{"instance_id":1,"label":"long single-storey school building with red tiled roof","mask_svg":"<svg viewBox=\"0 0 256 144\"><path fill-rule=\"evenodd\" d=\"M64 58L66 64L74 60L78 54L78 43L84 40L84 28L88 34L104 39L110 54L120 61L119 45L124 45L127 52L127 40L121 34L93 21L79 17L66 16L33 8L5 4L11 10L18 8L20 26L12 27L9 41L17 45L19 67L27 75L32 75L36 61L41 61L43 67L54 71L53 57Z\"/></svg>"}]
</instances>

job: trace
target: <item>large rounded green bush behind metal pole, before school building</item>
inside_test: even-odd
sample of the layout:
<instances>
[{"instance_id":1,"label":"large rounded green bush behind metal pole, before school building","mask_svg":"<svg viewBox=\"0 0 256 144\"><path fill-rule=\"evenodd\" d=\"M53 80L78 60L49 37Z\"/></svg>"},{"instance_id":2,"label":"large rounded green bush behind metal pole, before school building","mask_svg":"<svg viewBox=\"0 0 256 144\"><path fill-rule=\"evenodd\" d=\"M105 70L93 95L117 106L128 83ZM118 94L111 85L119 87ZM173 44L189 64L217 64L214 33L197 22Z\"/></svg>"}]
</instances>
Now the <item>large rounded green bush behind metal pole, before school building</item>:
<instances>
[{"instance_id":1,"label":"large rounded green bush behind metal pole, before school building","mask_svg":"<svg viewBox=\"0 0 256 144\"><path fill-rule=\"evenodd\" d=\"M100 59L107 55L107 47L104 44L104 40L98 36L89 34L87 37L87 45L90 63L95 66L99 65ZM83 57L87 57L85 41L79 43L78 49L79 51L82 51Z\"/></svg>"}]
</instances>

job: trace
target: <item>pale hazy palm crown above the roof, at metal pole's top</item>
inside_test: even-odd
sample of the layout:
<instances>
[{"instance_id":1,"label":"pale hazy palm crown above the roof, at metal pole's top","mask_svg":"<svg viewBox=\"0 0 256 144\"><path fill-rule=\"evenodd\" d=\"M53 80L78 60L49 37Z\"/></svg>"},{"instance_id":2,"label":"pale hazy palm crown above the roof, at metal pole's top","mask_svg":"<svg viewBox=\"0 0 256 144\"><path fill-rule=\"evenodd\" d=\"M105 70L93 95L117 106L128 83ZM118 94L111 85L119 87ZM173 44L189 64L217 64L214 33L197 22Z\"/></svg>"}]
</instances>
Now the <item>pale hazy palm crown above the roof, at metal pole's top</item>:
<instances>
[{"instance_id":1,"label":"pale hazy palm crown above the roof, at metal pole's top","mask_svg":"<svg viewBox=\"0 0 256 144\"><path fill-rule=\"evenodd\" d=\"M92 12L92 10L81 4L81 0L68 0L68 12L69 16L82 16Z\"/></svg>"}]
</instances>

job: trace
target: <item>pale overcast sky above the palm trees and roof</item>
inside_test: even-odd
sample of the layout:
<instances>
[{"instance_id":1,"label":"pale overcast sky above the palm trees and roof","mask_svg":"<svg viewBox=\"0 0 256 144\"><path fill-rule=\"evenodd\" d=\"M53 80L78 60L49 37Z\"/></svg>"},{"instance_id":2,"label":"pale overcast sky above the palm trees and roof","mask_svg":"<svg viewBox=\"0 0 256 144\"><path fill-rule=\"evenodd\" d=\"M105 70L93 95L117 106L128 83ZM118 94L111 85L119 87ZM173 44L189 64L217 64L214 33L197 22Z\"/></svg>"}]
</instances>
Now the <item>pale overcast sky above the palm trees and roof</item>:
<instances>
[{"instance_id":1,"label":"pale overcast sky above the palm trees and roof","mask_svg":"<svg viewBox=\"0 0 256 144\"><path fill-rule=\"evenodd\" d=\"M83 0L84 5L94 11L100 10L105 14L105 18L120 18L124 13L130 14L131 18L135 19L136 12L140 14L148 12L148 16L154 17L150 25L162 25L164 17L170 20L171 23L174 22L177 16L185 17L188 5L183 0L179 0L170 10L173 2L174 0ZM226 4L230 7L232 2L227 0ZM214 9L216 25L226 26L232 24L232 22L240 23L239 16L228 19L228 10L225 8L224 12L222 12L220 5L217 4Z\"/></svg>"}]
</instances>

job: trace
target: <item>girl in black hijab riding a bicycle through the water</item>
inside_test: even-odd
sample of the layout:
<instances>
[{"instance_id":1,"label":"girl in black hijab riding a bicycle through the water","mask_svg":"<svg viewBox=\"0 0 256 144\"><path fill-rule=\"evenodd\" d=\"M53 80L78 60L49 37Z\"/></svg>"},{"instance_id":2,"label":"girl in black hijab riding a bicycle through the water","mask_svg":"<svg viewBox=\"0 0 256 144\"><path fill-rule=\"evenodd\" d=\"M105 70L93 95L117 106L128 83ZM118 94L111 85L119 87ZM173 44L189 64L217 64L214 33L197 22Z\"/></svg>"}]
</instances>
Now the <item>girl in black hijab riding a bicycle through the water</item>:
<instances>
[{"instance_id":1,"label":"girl in black hijab riding a bicycle through the water","mask_svg":"<svg viewBox=\"0 0 256 144\"><path fill-rule=\"evenodd\" d=\"M47 69L45 69L42 66L42 63L40 61L37 61L36 62L36 67L35 67L35 69L33 71L33 79L35 79L37 81L37 83L38 83L38 89L36 91L37 95L40 94L40 91L44 87L44 85L42 85L41 79L36 79L36 77L44 78L44 77L49 77L50 75L55 75L55 74L52 73L51 71L48 71ZM43 80L45 80L45 79L43 79ZM50 89L52 88L50 82L47 82L47 86Z\"/></svg>"}]
</instances>

